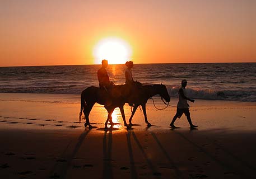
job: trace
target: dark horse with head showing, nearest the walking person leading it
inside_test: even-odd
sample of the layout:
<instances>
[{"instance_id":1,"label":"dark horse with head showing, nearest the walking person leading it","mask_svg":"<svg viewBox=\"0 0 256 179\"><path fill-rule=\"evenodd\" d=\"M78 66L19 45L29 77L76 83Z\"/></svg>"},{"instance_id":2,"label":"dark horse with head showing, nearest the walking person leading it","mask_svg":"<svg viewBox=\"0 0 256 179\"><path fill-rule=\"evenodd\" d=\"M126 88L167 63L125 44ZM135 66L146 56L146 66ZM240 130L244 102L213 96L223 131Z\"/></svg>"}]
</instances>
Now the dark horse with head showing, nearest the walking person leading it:
<instances>
[{"instance_id":1,"label":"dark horse with head showing, nearest the walking person leading it","mask_svg":"<svg viewBox=\"0 0 256 179\"><path fill-rule=\"evenodd\" d=\"M155 95L160 95L161 98L164 98L166 102L170 102L170 96L164 84L161 83L142 86L141 89L139 90L136 100L134 100L134 108L132 110L132 115L129 119L129 126L132 126L132 117L135 114L138 106L140 105L142 106L143 114L145 117L145 123L147 124L147 126L151 126L151 124L147 120L146 103L149 98Z\"/></svg>"}]
</instances>

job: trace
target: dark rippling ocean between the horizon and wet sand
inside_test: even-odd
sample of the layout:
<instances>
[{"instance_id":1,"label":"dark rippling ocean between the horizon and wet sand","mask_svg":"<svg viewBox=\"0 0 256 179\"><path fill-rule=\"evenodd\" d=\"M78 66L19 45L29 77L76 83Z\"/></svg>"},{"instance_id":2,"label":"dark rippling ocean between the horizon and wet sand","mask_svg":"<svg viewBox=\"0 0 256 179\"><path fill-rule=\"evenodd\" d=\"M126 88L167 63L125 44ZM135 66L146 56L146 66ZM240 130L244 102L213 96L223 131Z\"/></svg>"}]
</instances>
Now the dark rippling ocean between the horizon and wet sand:
<instances>
[{"instance_id":1,"label":"dark rippling ocean between the horizon and wet sand","mask_svg":"<svg viewBox=\"0 0 256 179\"><path fill-rule=\"evenodd\" d=\"M101 65L1 67L1 93L80 94L99 86ZM124 84L124 64L109 65L110 81ZM165 84L170 97L178 97L187 79L190 98L256 102L256 63L134 64L133 78L143 84Z\"/></svg>"}]
</instances>

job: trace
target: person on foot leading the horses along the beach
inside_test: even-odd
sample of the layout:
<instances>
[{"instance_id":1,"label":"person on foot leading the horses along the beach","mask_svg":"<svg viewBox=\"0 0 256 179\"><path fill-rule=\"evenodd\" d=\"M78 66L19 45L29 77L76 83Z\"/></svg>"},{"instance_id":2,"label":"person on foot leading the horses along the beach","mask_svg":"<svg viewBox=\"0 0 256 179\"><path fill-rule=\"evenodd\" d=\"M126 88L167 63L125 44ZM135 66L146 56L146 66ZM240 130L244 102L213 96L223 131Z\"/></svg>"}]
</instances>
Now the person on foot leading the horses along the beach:
<instances>
[{"instance_id":1,"label":"person on foot leading the horses along the beach","mask_svg":"<svg viewBox=\"0 0 256 179\"><path fill-rule=\"evenodd\" d=\"M197 128L197 125L193 125L191 118L190 118L190 112L189 112L189 105L187 100L194 102L194 100L190 99L187 97L187 92L185 90L185 87L187 86L187 80L183 79L183 81L181 81L181 87L179 89L179 102L177 105L177 112L175 114L175 116L173 117L173 121L171 121L171 128L176 128L176 126L174 125L174 122L176 121L177 117L181 117L183 115L183 113L187 116L188 119L188 123L190 125L190 128Z\"/></svg>"}]
</instances>

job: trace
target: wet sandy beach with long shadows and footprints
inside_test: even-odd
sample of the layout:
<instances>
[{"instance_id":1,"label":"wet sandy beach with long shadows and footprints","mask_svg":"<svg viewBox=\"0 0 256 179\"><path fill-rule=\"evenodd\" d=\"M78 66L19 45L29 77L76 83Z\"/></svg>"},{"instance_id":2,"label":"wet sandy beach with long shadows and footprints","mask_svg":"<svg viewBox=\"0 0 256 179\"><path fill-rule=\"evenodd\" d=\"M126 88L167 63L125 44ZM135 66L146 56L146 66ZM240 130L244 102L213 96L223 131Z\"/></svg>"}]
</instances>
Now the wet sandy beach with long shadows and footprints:
<instances>
[{"instance_id":1,"label":"wet sandy beach with long shadows and footprints","mask_svg":"<svg viewBox=\"0 0 256 179\"><path fill-rule=\"evenodd\" d=\"M253 102L196 100L179 129L169 128L177 99L156 110L148 101L126 130L104 130L106 111L95 105L90 122L78 123L79 95L0 93L0 178L254 178L256 175ZM155 97L157 107L165 107ZM125 105L127 122L131 109Z\"/></svg>"}]
</instances>

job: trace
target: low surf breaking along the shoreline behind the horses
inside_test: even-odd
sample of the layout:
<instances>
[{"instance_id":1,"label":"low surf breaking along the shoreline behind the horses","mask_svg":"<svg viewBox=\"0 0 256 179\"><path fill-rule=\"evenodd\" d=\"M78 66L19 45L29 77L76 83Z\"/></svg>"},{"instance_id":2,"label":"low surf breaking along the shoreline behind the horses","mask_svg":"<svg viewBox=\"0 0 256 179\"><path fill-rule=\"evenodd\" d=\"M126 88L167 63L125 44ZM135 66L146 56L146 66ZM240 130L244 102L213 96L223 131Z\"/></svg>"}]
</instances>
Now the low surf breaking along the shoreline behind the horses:
<instances>
[{"instance_id":1,"label":"low surf breaking along the shoreline behind the horses","mask_svg":"<svg viewBox=\"0 0 256 179\"><path fill-rule=\"evenodd\" d=\"M90 86L97 86L90 85ZM0 93L59 93L59 94L80 94L85 85L64 85L64 86L47 86L47 87L18 87L18 88L1 88ZM179 87L168 87L167 91L172 98L178 98ZM230 101L248 101L256 102L255 91L243 90L203 90L199 88L187 88L187 96L194 99L203 100L230 100Z\"/></svg>"}]
</instances>

